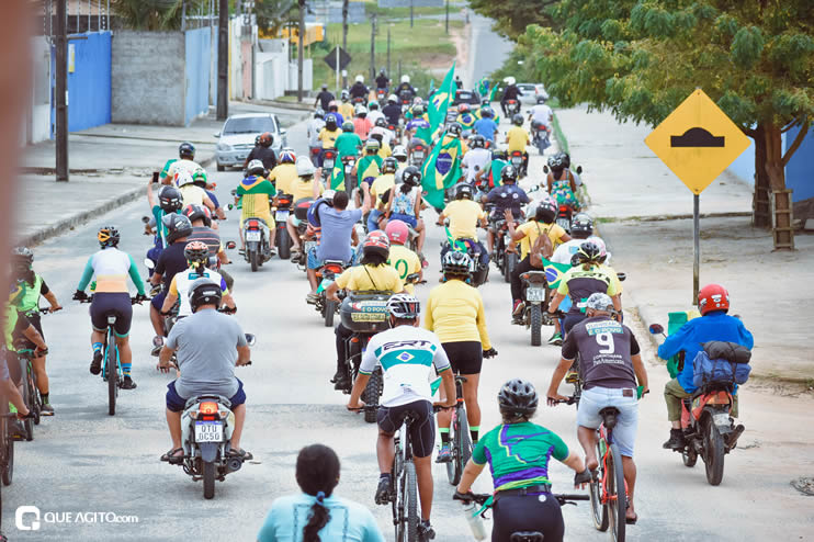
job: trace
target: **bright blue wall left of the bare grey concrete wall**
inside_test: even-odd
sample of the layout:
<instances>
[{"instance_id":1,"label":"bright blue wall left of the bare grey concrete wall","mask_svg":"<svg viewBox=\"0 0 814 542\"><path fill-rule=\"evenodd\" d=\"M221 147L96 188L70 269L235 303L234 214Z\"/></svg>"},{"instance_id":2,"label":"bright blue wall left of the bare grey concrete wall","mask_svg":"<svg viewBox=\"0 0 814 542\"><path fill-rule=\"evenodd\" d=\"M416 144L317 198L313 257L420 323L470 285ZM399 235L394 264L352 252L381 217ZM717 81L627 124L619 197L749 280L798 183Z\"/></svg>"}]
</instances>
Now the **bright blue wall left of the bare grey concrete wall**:
<instances>
[{"instance_id":1,"label":"bright blue wall left of the bare grey concrete wall","mask_svg":"<svg viewBox=\"0 0 814 542\"><path fill-rule=\"evenodd\" d=\"M71 39L74 71L68 71L68 131L99 126L111 122L111 33L91 32L87 39ZM70 56L70 52L69 52ZM52 47L52 88L56 77L56 50ZM70 58L68 58L70 66ZM56 101L52 100L55 104ZM56 111L52 106L52 131Z\"/></svg>"}]
</instances>

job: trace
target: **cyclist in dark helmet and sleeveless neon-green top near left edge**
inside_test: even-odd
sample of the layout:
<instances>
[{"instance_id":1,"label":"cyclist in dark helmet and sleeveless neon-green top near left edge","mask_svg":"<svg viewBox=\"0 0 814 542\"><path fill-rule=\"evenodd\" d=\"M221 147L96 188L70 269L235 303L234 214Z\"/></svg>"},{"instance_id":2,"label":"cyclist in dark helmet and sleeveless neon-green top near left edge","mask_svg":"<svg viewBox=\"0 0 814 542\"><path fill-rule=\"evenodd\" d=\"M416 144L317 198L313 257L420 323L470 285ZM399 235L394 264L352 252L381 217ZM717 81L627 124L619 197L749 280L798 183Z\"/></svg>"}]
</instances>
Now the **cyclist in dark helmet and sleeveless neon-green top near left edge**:
<instances>
[{"instance_id":1,"label":"cyclist in dark helmet and sleeveless neon-green top near left edge","mask_svg":"<svg viewBox=\"0 0 814 542\"><path fill-rule=\"evenodd\" d=\"M25 286L25 293L20 297L16 304L18 313L22 313L29 319L32 326L37 330L39 336L45 338L43 332L43 325L39 319L39 296L45 297L50 304L49 313L54 313L63 308L57 301L54 291L48 289L45 281L41 275L34 272L33 268L34 252L27 247L16 247L11 252L11 264L13 278L18 281L23 281ZM29 339L25 339L26 349L34 350L37 352L36 345ZM54 407L48 402L48 374L45 372L45 354L36 355L32 359L32 365L34 368L34 374L36 375L37 388L39 395L43 398L43 416L54 416Z\"/></svg>"}]
</instances>

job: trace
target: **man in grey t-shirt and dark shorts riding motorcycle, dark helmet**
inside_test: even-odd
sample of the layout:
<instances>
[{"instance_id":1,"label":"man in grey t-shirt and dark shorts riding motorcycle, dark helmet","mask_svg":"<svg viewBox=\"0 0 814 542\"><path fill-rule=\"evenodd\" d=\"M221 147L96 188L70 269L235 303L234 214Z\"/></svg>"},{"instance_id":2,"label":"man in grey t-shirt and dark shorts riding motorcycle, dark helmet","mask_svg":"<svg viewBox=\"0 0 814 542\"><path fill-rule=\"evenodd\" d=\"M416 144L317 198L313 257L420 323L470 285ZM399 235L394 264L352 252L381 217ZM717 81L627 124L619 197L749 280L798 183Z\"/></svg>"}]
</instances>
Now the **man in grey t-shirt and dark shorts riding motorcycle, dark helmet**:
<instances>
[{"instance_id":1,"label":"man in grey t-shirt and dark shorts riding motorcycle, dark helmet","mask_svg":"<svg viewBox=\"0 0 814 542\"><path fill-rule=\"evenodd\" d=\"M246 421L246 393L242 382L235 376L235 365L250 362L251 349L237 320L217 312L221 301L221 287L215 282L195 280L189 292L193 314L178 320L159 354L157 369L167 372L172 353L177 351L181 373L167 385L167 426L172 449L161 456L161 461L171 464L181 461L181 414L188 399L206 394L229 397L235 426L227 455L244 461L252 459L251 453L240 448Z\"/></svg>"}]
</instances>

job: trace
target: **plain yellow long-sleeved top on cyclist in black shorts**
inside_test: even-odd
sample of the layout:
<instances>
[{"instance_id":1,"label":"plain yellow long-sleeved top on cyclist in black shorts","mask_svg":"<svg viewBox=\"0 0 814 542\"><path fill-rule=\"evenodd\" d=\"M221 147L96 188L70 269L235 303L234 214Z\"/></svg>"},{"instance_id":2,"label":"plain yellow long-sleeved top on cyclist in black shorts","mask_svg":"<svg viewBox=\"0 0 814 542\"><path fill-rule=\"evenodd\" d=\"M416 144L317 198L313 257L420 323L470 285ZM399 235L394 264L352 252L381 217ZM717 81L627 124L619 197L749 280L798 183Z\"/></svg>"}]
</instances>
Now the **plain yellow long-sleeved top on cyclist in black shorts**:
<instances>
[{"instance_id":1,"label":"plain yellow long-sleeved top on cyclist in black shorts","mask_svg":"<svg viewBox=\"0 0 814 542\"><path fill-rule=\"evenodd\" d=\"M442 343L479 341L484 350L491 348L481 292L465 282L452 280L432 289L423 325Z\"/></svg>"}]
</instances>

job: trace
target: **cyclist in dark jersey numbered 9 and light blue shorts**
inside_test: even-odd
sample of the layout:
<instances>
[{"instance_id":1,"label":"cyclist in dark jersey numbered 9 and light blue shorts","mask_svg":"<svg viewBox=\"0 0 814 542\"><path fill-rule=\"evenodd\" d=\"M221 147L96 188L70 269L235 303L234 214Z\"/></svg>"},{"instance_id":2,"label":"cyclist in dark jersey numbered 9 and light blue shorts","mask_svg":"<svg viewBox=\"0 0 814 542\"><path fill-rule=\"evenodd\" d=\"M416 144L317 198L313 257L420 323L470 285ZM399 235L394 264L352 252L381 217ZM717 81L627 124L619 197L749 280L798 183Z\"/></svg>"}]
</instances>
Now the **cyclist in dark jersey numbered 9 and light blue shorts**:
<instances>
[{"instance_id":1,"label":"cyclist in dark jersey numbered 9 and light blue shorts","mask_svg":"<svg viewBox=\"0 0 814 542\"><path fill-rule=\"evenodd\" d=\"M577 438L585 450L589 471L599 466L597 428L602 422L599 411L613 406L619 409L613 441L622 454L624 481L628 486L628 523L638 517L633 507L636 465L633 448L638 426L638 397L648 392L647 371L642 362L638 342L631 329L614 319L617 308L603 293L593 293L586 302L586 319L576 324L563 342L562 358L549 385L549 403L567 399L557 388L579 355L583 396L577 409ZM636 389L636 382L641 393Z\"/></svg>"}]
</instances>

